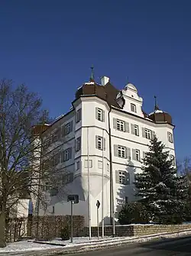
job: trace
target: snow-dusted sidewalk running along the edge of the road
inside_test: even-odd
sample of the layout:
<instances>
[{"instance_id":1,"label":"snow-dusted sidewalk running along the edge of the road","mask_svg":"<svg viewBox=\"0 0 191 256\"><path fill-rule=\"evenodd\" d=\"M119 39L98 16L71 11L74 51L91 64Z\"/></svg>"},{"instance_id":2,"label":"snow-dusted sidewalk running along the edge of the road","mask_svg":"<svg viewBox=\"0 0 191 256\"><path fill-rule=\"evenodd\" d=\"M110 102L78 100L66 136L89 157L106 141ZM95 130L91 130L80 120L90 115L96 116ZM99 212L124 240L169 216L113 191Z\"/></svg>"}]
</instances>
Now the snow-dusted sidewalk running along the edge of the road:
<instances>
[{"instance_id":1,"label":"snow-dusted sidewalk running along the edge of the road","mask_svg":"<svg viewBox=\"0 0 191 256\"><path fill-rule=\"evenodd\" d=\"M75 252L92 251L99 248L105 247L117 247L124 244L141 243L151 240L161 240L167 238L178 238L191 235L191 230L185 232L171 232L171 233L160 233L154 235L146 235L142 237L117 237L117 238L105 238L92 241L83 241L83 238L76 238L73 244L69 241L46 241L44 244L41 241L19 241L17 243L11 243L6 248L0 248L0 255L17 255L17 256L47 256L57 254L73 254ZM75 238L74 238L75 239ZM85 239L85 238L84 238ZM55 245L52 245L52 244ZM65 244L64 244L65 243Z\"/></svg>"}]
</instances>

